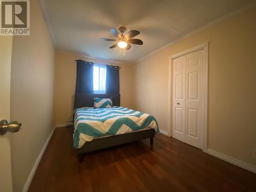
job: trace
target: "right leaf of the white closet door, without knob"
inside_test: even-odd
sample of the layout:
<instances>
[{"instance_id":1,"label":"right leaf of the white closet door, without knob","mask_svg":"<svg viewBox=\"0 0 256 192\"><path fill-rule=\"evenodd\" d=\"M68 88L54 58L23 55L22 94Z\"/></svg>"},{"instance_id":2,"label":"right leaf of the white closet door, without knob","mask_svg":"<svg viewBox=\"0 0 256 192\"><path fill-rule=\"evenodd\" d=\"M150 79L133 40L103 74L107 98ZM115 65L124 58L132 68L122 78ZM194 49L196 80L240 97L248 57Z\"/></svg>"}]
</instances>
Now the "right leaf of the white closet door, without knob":
<instances>
[{"instance_id":1,"label":"right leaf of the white closet door, without knob","mask_svg":"<svg viewBox=\"0 0 256 192\"><path fill-rule=\"evenodd\" d=\"M185 142L203 148L205 50L186 55Z\"/></svg>"}]
</instances>

